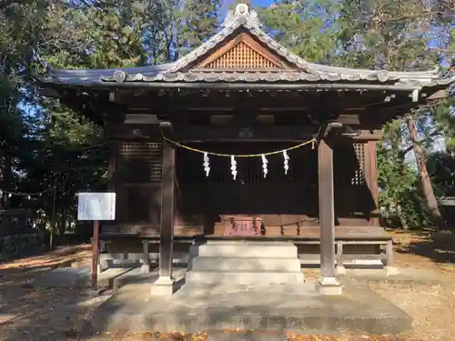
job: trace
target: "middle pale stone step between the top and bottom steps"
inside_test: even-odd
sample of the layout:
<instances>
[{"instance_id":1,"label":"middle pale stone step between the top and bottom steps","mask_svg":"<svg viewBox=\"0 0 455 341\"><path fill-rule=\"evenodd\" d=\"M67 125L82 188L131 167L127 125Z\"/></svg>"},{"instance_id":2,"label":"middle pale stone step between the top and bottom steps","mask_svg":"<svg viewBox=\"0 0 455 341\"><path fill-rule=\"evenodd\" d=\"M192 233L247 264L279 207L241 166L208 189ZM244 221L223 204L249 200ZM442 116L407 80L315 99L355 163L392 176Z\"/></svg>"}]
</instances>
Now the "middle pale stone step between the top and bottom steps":
<instances>
[{"instance_id":1,"label":"middle pale stone step between the top and bottom steps","mask_svg":"<svg viewBox=\"0 0 455 341\"><path fill-rule=\"evenodd\" d=\"M265 271L298 272L300 261L294 258L258 258L258 257L205 257L193 259L190 269L195 271Z\"/></svg>"}]
</instances>

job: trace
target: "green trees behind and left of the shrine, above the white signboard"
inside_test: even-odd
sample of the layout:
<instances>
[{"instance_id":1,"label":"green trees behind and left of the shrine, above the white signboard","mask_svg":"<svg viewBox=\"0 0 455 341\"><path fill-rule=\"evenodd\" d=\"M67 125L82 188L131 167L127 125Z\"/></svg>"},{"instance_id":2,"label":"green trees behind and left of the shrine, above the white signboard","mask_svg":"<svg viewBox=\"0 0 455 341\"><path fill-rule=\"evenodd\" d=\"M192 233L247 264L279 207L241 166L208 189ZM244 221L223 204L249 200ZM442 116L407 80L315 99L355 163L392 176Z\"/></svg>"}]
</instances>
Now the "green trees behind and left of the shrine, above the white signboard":
<instances>
[{"instance_id":1,"label":"green trees behind and left of the shrine, above the white signboard","mask_svg":"<svg viewBox=\"0 0 455 341\"><path fill-rule=\"evenodd\" d=\"M75 194L106 184L103 129L35 92L32 72L176 60L217 28L219 1L8 1L0 6L0 206L35 209L40 226L74 221ZM15 170L15 171L14 171ZM53 187L56 186L56 190ZM56 205L54 205L54 202ZM53 219L53 217L55 217Z\"/></svg>"}]
</instances>

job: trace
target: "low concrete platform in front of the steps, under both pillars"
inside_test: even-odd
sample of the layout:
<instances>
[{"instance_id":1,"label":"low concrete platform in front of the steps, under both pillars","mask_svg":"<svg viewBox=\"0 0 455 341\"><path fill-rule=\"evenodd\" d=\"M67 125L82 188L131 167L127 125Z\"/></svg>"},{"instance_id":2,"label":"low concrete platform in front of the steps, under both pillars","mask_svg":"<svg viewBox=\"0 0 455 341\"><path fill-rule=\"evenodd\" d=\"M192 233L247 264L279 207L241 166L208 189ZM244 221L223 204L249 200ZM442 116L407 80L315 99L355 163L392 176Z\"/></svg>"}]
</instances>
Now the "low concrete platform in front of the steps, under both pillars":
<instances>
[{"instance_id":1,"label":"low concrete platform in front of the steps, under both pillars","mask_svg":"<svg viewBox=\"0 0 455 341\"><path fill-rule=\"evenodd\" d=\"M398 334L411 319L369 289L347 285L342 296L320 296L305 285L184 285L169 298L150 284L127 285L91 313L96 331L268 331L299 334Z\"/></svg>"}]
</instances>

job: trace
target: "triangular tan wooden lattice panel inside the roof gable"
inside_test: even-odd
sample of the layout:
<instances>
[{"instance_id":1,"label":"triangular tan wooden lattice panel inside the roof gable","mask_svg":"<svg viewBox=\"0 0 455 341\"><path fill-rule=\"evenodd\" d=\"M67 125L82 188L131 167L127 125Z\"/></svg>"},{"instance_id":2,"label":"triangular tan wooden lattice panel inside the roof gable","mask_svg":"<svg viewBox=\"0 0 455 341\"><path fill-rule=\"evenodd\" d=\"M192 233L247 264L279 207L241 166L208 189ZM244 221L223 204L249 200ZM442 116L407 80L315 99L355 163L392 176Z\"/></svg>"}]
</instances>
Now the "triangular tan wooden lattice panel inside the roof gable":
<instances>
[{"instance_id":1,"label":"triangular tan wooden lattice panel inside the roof gable","mask_svg":"<svg viewBox=\"0 0 455 341\"><path fill-rule=\"evenodd\" d=\"M205 65L207 68L278 69L278 66L260 55L244 42L238 43L224 55Z\"/></svg>"}]
</instances>

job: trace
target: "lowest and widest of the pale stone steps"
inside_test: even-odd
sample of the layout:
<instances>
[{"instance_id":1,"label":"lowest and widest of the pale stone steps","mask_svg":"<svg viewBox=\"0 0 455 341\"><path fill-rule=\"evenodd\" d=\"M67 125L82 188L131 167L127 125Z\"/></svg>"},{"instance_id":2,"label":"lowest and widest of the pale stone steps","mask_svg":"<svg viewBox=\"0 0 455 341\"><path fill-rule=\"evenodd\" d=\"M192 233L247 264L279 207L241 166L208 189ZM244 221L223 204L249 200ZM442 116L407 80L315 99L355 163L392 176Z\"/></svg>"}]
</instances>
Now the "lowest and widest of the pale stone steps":
<instances>
[{"instance_id":1,"label":"lowest and widest of the pale stone steps","mask_svg":"<svg viewBox=\"0 0 455 341\"><path fill-rule=\"evenodd\" d=\"M186 284L218 284L227 282L243 286L258 286L267 284L301 284L304 282L303 273L299 272L219 272L219 271L188 271L185 276Z\"/></svg>"}]
</instances>

